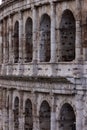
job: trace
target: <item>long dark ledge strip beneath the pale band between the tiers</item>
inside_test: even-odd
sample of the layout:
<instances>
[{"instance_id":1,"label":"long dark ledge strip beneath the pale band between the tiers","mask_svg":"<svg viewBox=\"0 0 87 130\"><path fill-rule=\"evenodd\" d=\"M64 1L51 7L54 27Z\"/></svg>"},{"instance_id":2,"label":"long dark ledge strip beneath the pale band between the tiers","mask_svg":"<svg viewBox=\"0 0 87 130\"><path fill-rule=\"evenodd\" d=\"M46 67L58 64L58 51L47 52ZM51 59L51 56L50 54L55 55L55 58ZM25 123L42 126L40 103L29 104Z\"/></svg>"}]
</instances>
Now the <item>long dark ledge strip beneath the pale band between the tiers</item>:
<instances>
[{"instance_id":1,"label":"long dark ledge strip beneath the pale band between the tiers","mask_svg":"<svg viewBox=\"0 0 87 130\"><path fill-rule=\"evenodd\" d=\"M66 84L72 84L69 80L67 80L65 77L43 77L43 76L0 76L1 80L11 80L11 81L33 81L33 82L47 82L47 83L66 83Z\"/></svg>"}]
</instances>

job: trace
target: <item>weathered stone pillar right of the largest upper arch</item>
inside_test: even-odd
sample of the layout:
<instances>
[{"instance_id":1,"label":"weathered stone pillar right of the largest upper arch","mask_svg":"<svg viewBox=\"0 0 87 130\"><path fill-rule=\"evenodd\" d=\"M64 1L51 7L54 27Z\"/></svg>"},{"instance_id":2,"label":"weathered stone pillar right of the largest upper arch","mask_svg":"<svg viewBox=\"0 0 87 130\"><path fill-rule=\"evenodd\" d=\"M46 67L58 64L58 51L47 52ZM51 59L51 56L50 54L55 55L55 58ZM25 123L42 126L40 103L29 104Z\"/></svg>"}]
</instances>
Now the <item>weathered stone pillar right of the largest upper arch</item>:
<instances>
[{"instance_id":1,"label":"weathered stone pillar right of the largest upper arch","mask_svg":"<svg viewBox=\"0 0 87 130\"><path fill-rule=\"evenodd\" d=\"M76 0L76 60L81 59L82 28L81 28L81 1Z\"/></svg>"}]
</instances>

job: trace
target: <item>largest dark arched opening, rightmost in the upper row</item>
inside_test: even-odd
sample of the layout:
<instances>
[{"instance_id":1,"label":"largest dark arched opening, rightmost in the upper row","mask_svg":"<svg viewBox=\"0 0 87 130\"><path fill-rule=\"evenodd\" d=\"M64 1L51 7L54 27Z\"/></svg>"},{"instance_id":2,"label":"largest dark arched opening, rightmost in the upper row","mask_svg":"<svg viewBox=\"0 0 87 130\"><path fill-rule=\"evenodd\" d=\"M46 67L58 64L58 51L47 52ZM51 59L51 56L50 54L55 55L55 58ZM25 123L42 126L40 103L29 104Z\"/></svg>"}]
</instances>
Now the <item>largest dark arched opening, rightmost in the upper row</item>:
<instances>
[{"instance_id":1,"label":"largest dark arched opening, rightmost in the upper row","mask_svg":"<svg viewBox=\"0 0 87 130\"><path fill-rule=\"evenodd\" d=\"M75 18L70 10L65 10L60 23L60 61L75 59Z\"/></svg>"}]
</instances>

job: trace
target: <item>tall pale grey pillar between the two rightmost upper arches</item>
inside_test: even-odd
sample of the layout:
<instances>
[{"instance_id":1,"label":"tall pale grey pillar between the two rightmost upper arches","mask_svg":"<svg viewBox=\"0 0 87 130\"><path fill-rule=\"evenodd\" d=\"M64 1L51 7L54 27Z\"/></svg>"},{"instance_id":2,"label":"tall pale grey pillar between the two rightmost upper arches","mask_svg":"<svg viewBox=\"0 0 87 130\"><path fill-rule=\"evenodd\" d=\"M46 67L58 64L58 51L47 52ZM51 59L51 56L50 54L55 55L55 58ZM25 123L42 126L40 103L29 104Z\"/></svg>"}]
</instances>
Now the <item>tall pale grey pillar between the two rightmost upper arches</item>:
<instances>
[{"instance_id":1,"label":"tall pale grey pillar between the two rightmost upper arches","mask_svg":"<svg viewBox=\"0 0 87 130\"><path fill-rule=\"evenodd\" d=\"M56 15L55 15L55 5L51 2L51 62L56 62Z\"/></svg>"}]
</instances>

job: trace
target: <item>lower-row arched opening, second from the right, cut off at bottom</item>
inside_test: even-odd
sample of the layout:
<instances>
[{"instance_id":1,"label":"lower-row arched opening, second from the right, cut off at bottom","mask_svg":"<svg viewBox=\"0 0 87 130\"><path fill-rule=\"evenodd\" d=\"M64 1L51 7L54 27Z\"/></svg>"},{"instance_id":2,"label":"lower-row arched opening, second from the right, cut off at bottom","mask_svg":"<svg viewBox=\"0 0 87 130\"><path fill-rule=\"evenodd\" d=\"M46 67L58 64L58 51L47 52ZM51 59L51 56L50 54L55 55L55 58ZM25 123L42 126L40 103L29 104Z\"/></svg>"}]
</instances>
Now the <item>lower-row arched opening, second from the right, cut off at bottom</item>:
<instances>
[{"instance_id":1,"label":"lower-row arched opening, second from the right, cut off at bottom","mask_svg":"<svg viewBox=\"0 0 87 130\"><path fill-rule=\"evenodd\" d=\"M46 101L43 101L39 112L40 130L50 130L51 109Z\"/></svg>"}]
</instances>

